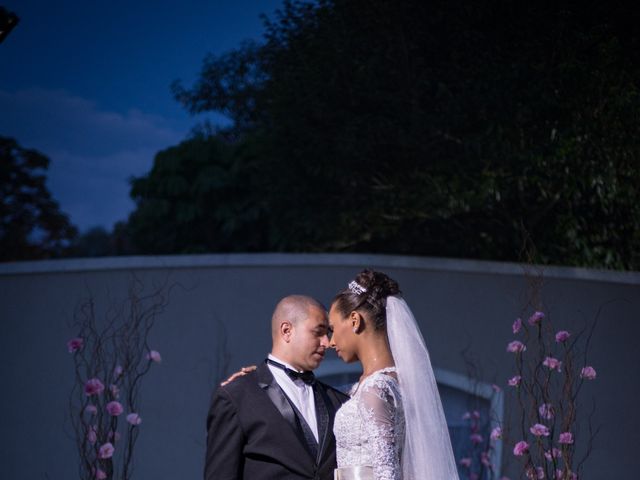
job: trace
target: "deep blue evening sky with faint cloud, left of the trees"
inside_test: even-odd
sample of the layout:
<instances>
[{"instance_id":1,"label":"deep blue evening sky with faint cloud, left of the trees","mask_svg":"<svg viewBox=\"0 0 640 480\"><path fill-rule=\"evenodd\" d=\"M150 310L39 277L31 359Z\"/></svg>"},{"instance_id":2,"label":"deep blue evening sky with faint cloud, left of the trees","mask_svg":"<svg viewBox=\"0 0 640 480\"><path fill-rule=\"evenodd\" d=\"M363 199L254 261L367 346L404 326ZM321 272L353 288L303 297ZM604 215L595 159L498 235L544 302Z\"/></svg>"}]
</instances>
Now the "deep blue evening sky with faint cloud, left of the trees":
<instances>
[{"instance_id":1,"label":"deep blue evening sky with faint cloud, left of the trees","mask_svg":"<svg viewBox=\"0 0 640 480\"><path fill-rule=\"evenodd\" d=\"M259 39L281 0L5 0L20 23L0 44L0 135L51 159L48 185L81 230L133 208L128 179L200 120L173 99L207 53Z\"/></svg>"}]
</instances>

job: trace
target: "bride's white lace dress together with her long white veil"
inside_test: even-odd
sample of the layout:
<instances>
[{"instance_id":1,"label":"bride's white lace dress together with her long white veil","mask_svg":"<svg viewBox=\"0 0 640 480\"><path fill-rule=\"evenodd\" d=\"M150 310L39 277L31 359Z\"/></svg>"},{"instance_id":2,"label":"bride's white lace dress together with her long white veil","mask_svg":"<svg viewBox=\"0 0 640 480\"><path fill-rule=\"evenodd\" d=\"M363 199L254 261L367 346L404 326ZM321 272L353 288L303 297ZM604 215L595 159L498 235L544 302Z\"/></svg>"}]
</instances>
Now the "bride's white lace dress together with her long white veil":
<instances>
[{"instance_id":1,"label":"bride's white lace dress together with her long white veil","mask_svg":"<svg viewBox=\"0 0 640 480\"><path fill-rule=\"evenodd\" d=\"M422 333L402 298L388 297L386 308L396 367L379 370L355 385L351 399L336 413L336 478L458 480Z\"/></svg>"}]
</instances>

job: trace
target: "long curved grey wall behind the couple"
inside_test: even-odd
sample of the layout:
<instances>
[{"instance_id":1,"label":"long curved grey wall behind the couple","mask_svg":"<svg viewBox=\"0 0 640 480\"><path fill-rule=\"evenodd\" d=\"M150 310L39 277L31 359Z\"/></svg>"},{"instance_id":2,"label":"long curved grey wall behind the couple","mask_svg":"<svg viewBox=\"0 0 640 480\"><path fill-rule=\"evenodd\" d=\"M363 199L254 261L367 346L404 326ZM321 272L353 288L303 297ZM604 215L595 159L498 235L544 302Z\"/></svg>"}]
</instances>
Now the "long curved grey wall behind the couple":
<instances>
[{"instance_id":1,"label":"long curved grey wall behind the couple","mask_svg":"<svg viewBox=\"0 0 640 480\"><path fill-rule=\"evenodd\" d=\"M364 267L399 281L437 368L465 375L468 349L480 380L512 374L505 345L526 306L514 264L378 255L197 255L118 257L0 265L0 465L10 479L73 478L67 415L72 362L65 343L74 308L91 291L100 308L125 295L131 273L145 284L179 283L152 341L163 362L145 379L138 479L200 478L208 398L228 368L261 361L278 299L304 293L328 303ZM542 301L555 325L576 330L599 309L589 357L598 380L585 387L602 425L587 479L631 478L640 468L640 274L548 267ZM223 327L221 327L221 325ZM221 350L224 345L225 350ZM509 460L509 452L504 454ZM516 462L511 462L512 467ZM508 465L507 465L508 466ZM514 475L515 478L515 475Z\"/></svg>"}]
</instances>

